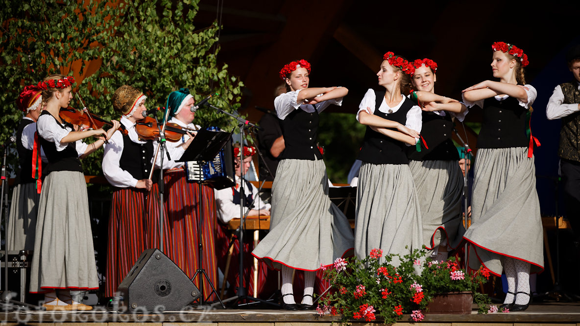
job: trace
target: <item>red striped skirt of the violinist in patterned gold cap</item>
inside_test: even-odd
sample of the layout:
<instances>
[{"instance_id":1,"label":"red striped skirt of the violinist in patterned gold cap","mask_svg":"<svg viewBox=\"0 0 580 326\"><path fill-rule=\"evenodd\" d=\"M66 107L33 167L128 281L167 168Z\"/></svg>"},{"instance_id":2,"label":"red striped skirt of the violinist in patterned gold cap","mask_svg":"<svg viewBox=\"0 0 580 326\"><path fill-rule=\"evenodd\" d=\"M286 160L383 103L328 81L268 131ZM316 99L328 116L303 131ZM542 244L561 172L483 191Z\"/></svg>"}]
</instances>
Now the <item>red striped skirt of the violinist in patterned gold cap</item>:
<instances>
[{"instance_id":1,"label":"red striped skirt of the violinist in patterned gold cap","mask_svg":"<svg viewBox=\"0 0 580 326\"><path fill-rule=\"evenodd\" d=\"M155 236L159 230L157 193L157 183L153 184L150 193L135 188L113 191L108 221L105 296L115 296L119 284L144 250L159 247L159 237ZM169 234L166 230L164 238L167 245Z\"/></svg>"}]
</instances>

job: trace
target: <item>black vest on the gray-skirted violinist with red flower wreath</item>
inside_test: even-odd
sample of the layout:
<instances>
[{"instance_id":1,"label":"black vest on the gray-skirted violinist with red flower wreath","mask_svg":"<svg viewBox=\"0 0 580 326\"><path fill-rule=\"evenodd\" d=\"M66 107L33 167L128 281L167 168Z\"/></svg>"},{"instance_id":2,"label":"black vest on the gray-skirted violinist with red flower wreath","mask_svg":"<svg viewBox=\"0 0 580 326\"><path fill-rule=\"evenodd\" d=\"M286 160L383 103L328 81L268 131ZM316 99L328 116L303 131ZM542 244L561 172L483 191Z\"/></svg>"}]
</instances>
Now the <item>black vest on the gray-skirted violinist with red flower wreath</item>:
<instances>
[{"instance_id":1,"label":"black vest on the gray-skirted violinist with red flower wreath","mask_svg":"<svg viewBox=\"0 0 580 326\"><path fill-rule=\"evenodd\" d=\"M58 124L60 128L65 129L66 126L73 128L73 125L68 124L68 122L64 122L64 125L59 124L59 122L56 121L56 118L48 113L48 111L43 111L41 113L41 115L45 114L48 114L50 115L50 118L55 119L56 124ZM81 160L78 158L75 142L70 142L64 150L57 151L55 143L42 138L40 135L38 136L41 146L44 149L44 153L46 154L46 158L48 158L48 167L46 168L46 173L44 173L44 170L42 171L43 175L48 175L53 171L82 172Z\"/></svg>"}]
</instances>

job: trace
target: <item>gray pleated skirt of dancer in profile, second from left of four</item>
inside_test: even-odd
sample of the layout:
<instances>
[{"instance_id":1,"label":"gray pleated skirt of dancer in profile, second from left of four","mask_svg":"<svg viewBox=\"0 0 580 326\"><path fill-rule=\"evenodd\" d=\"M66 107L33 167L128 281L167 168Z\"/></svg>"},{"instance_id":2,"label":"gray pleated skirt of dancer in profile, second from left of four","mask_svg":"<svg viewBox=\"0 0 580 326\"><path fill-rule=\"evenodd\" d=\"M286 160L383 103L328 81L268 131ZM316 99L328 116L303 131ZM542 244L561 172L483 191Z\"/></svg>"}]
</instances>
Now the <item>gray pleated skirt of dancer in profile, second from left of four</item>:
<instances>
[{"instance_id":1,"label":"gray pleated skirt of dancer in profile, second from left of four","mask_svg":"<svg viewBox=\"0 0 580 326\"><path fill-rule=\"evenodd\" d=\"M354 250L361 259L374 248L383 249L383 256L422 248L419 202L408 165L362 163L355 223Z\"/></svg>"}]
</instances>

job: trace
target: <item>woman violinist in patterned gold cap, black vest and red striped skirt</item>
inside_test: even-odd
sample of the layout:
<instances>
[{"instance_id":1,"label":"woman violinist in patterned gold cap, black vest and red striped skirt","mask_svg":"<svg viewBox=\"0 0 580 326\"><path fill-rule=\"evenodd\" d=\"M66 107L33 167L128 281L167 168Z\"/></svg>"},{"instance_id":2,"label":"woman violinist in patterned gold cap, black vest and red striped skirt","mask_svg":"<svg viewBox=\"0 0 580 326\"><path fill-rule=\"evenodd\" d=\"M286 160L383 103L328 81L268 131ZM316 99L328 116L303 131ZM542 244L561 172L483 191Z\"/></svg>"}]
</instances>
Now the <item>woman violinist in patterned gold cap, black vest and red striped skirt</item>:
<instances>
[{"instance_id":1,"label":"woman violinist in patterned gold cap, black vest and red striped skirt","mask_svg":"<svg viewBox=\"0 0 580 326\"><path fill-rule=\"evenodd\" d=\"M114 296L121 281L145 249L157 248L158 185L149 179L153 169L152 140L141 140L136 121L146 115L147 96L129 85L113 94L113 108L121 114L121 130L104 145L103 173L113 186L108 222L105 295ZM159 160L158 160L159 161ZM156 165L158 167L158 165ZM165 236L168 240L168 236Z\"/></svg>"}]
</instances>

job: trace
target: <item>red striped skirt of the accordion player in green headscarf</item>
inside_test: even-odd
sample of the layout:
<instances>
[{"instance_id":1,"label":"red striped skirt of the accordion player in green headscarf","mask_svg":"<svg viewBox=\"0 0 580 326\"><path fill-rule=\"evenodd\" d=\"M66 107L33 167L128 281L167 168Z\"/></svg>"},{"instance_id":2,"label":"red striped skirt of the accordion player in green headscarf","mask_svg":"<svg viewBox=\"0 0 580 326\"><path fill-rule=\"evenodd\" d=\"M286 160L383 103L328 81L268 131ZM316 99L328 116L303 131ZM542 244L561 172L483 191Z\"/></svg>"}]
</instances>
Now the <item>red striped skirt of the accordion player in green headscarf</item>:
<instances>
[{"instance_id":1,"label":"red striped skirt of the accordion player in green headscarf","mask_svg":"<svg viewBox=\"0 0 580 326\"><path fill-rule=\"evenodd\" d=\"M165 219L169 233L168 245L164 248L167 255L190 278L198 269L198 195L200 186L188 182L183 170L166 171L165 180ZM201 242L203 269L208 274L213 286L218 285L218 262L215 253L217 214L213 189L201 186ZM165 241L164 241L165 242ZM204 280L203 293L207 297L212 291L209 282L198 275L194 283L200 287L200 280ZM217 297L212 295L209 300Z\"/></svg>"}]
</instances>

